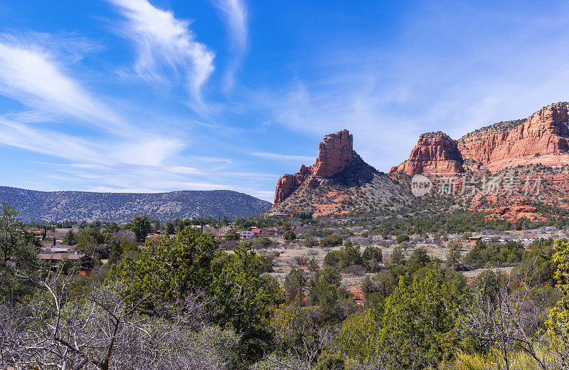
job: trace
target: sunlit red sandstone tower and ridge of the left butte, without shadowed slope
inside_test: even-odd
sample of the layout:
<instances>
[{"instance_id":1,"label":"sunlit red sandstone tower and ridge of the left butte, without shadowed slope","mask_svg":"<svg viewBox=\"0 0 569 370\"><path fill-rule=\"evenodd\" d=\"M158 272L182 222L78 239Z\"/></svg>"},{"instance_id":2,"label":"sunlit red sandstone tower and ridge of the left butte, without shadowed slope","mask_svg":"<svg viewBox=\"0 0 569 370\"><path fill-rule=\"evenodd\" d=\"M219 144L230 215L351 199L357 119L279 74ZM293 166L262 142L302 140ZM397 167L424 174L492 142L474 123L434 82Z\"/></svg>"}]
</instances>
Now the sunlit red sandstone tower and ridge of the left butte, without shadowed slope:
<instances>
[{"instance_id":1,"label":"sunlit red sandstone tower and ridge of the left butte, without shadowed slope","mask_svg":"<svg viewBox=\"0 0 569 370\"><path fill-rule=\"evenodd\" d=\"M327 134L319 144L318 158L312 166L303 164L296 174L285 174L277 181L274 205L287 199L307 178L310 177L307 186L314 188L324 179L344 171L356 157L358 154L353 151L353 135L347 129Z\"/></svg>"}]
</instances>

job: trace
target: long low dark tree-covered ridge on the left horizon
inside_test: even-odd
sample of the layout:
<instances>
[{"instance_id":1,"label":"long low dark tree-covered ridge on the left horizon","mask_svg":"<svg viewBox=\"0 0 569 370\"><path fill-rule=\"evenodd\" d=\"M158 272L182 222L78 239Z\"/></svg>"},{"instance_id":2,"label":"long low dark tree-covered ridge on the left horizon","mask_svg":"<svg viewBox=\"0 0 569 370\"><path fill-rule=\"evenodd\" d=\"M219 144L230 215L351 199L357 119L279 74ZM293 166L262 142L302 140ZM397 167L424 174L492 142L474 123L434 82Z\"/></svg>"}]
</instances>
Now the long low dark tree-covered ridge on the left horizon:
<instances>
[{"instance_id":1,"label":"long low dark tree-covered ridge on the left horizon","mask_svg":"<svg viewBox=\"0 0 569 370\"><path fill-rule=\"evenodd\" d=\"M0 204L18 208L22 221L127 222L146 214L161 221L176 218L255 216L271 203L229 190L171 193L94 193L34 191L0 186Z\"/></svg>"}]
</instances>

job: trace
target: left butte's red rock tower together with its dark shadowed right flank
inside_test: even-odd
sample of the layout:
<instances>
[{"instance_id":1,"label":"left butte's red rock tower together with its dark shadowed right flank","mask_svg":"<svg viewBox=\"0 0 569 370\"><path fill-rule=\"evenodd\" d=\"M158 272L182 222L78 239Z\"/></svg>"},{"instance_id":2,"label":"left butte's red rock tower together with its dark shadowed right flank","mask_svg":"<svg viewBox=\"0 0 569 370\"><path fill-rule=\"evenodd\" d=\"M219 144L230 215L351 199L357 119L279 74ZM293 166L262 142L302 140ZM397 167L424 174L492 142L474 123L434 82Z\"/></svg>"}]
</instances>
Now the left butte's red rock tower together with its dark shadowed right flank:
<instances>
[{"instance_id":1,"label":"left butte's red rock tower together with its dark shadowed right flank","mask_svg":"<svg viewBox=\"0 0 569 370\"><path fill-rule=\"evenodd\" d=\"M318 158L312 166L303 164L296 174L285 174L277 181L275 205L303 186L317 188L328 181L350 185L371 181L375 173L376 169L353 151L353 136L347 129L327 134L319 144Z\"/></svg>"}]
</instances>

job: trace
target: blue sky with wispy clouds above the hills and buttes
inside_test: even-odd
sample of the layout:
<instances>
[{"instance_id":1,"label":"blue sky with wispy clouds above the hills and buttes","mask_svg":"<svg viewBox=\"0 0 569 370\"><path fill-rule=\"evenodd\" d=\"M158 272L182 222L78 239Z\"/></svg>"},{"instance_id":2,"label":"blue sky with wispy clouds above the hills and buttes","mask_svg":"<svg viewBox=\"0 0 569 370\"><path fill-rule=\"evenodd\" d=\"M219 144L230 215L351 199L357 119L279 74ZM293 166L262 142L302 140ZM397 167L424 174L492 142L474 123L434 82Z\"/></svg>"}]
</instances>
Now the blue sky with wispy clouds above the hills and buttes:
<instances>
[{"instance_id":1,"label":"blue sky with wispy clouds above the hills and buttes","mask_svg":"<svg viewBox=\"0 0 569 370\"><path fill-rule=\"evenodd\" d=\"M349 129L388 171L569 100L567 1L0 3L0 185L272 200Z\"/></svg>"}]
</instances>

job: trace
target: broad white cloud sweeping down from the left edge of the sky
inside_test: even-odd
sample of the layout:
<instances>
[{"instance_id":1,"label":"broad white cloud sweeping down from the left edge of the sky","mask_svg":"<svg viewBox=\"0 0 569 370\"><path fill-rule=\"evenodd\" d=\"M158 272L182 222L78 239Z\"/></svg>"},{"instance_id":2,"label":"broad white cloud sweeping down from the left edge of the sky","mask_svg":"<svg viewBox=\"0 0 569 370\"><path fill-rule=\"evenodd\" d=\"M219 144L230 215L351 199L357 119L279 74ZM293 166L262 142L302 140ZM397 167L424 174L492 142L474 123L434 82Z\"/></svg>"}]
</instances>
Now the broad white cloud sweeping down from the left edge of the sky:
<instances>
[{"instance_id":1,"label":"broad white cloud sweeping down from the left edge of the sky","mask_svg":"<svg viewBox=\"0 0 569 370\"><path fill-rule=\"evenodd\" d=\"M0 95L33 108L0 115L0 144L66 161L151 166L186 147L177 137L131 125L64 70L55 54L27 38L0 38ZM83 122L89 130L66 134L58 122ZM28 125L38 123L50 125Z\"/></svg>"}]
</instances>

